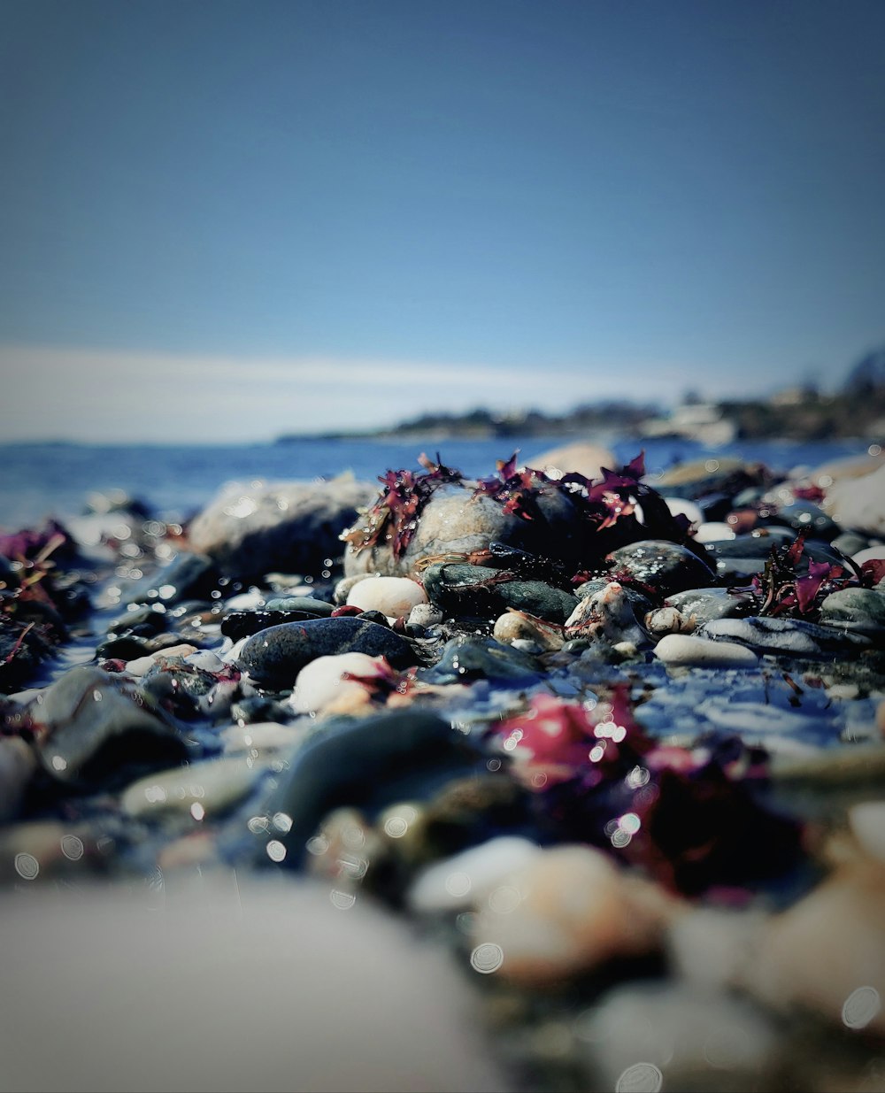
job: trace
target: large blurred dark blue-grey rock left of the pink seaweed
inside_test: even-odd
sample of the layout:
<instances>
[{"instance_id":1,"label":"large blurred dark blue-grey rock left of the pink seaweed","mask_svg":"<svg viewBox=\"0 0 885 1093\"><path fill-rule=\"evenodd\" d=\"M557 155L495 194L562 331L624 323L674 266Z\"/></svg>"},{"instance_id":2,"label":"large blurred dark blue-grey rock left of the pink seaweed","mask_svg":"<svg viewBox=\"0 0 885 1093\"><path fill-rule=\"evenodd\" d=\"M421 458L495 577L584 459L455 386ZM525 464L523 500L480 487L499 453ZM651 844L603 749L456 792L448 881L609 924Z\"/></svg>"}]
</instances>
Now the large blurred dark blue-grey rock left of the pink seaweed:
<instances>
[{"instance_id":1,"label":"large blurred dark blue-grey rock left of the pink seaweed","mask_svg":"<svg viewBox=\"0 0 885 1093\"><path fill-rule=\"evenodd\" d=\"M297 869L322 818L343 806L379 810L426 799L440 785L476 771L481 757L448 721L418 709L327 721L300 745L266 812L284 815L259 859Z\"/></svg>"}]
</instances>

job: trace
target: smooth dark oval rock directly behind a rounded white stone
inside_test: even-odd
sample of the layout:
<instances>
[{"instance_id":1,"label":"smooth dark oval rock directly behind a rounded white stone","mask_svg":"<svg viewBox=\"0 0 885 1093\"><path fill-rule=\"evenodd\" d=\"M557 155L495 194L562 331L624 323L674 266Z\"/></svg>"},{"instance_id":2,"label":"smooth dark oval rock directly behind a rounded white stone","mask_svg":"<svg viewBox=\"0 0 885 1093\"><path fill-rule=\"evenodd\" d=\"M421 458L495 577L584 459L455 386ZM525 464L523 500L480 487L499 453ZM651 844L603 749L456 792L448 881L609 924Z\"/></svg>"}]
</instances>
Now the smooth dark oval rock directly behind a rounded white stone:
<instances>
[{"instance_id":1,"label":"smooth dark oval rock directly behind a rounded white stone","mask_svg":"<svg viewBox=\"0 0 885 1093\"><path fill-rule=\"evenodd\" d=\"M415 663L409 643L392 630L361 616L309 619L270 626L248 638L238 663L260 685L285 687L317 657L365 653L385 657L393 668Z\"/></svg>"}]
</instances>

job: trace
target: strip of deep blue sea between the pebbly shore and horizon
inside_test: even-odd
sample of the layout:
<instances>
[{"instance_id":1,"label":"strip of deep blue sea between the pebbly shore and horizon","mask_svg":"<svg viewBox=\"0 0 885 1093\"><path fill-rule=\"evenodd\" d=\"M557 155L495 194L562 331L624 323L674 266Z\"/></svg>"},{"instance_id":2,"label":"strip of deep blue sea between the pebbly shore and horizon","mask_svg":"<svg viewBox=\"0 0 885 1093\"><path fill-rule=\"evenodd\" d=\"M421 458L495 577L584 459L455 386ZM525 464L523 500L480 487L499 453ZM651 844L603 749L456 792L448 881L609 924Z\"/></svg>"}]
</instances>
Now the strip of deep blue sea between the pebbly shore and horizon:
<instances>
[{"instance_id":1,"label":"strip of deep blue sea between the pebbly shore and horizon","mask_svg":"<svg viewBox=\"0 0 885 1093\"><path fill-rule=\"evenodd\" d=\"M388 469L418 469L425 451L469 477L491 474L495 461L519 449L534 457L575 437L507 439L315 439L248 445L0 445L0 528L15 531L52 516L64 520L85 510L92 492L121 490L148 504L162 519L187 519L228 482L312 480L353 472L374 481ZM592 438L591 438L592 439ZM640 450L646 468L659 472L696 458L741 456L772 470L814 467L828 459L860 455L869 442L796 444L783 440L735 442L718 448L683 439L605 437L621 462Z\"/></svg>"}]
</instances>

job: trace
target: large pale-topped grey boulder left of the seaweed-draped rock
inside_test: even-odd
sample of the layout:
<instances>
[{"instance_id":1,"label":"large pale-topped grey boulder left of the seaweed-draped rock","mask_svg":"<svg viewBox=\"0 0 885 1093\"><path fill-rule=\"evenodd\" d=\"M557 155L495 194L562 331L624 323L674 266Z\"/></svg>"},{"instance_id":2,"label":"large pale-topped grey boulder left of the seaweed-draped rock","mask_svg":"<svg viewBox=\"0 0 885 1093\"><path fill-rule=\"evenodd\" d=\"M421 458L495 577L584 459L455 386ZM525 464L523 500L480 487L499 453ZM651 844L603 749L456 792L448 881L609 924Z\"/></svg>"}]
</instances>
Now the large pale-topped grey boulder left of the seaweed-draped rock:
<instances>
[{"instance_id":1,"label":"large pale-topped grey boulder left of the seaweed-draped rock","mask_svg":"<svg viewBox=\"0 0 885 1093\"><path fill-rule=\"evenodd\" d=\"M350 477L225 490L188 529L194 551L224 573L260 577L273 569L318 574L341 556L341 531L376 487Z\"/></svg>"}]
</instances>

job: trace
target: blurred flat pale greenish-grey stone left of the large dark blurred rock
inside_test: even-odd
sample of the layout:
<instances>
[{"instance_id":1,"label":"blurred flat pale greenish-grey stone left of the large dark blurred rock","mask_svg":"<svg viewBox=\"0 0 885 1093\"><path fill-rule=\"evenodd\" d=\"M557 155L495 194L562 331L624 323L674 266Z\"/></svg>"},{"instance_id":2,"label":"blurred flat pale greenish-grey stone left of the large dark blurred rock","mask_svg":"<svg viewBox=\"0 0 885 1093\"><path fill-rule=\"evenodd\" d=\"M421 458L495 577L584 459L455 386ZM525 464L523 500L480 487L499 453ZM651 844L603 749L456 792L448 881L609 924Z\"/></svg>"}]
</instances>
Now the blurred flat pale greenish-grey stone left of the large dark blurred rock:
<instances>
[{"instance_id":1,"label":"blurred flat pale greenish-grey stone left of the large dark blurred rock","mask_svg":"<svg viewBox=\"0 0 885 1093\"><path fill-rule=\"evenodd\" d=\"M228 812L256 788L268 760L229 755L150 774L127 786L120 808L137 818L178 814L194 823Z\"/></svg>"}]
</instances>

